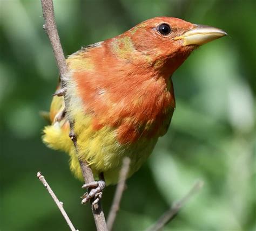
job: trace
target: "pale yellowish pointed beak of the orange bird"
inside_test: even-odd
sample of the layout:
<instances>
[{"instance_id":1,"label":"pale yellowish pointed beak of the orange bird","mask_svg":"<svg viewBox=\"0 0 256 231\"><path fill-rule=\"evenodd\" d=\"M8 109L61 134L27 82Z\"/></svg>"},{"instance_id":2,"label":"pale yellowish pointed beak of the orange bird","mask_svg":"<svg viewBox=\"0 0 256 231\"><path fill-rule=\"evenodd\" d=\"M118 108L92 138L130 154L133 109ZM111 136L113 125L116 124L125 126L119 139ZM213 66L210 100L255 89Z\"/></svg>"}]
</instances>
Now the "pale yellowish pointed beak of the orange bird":
<instances>
[{"instance_id":1,"label":"pale yellowish pointed beak of the orange bird","mask_svg":"<svg viewBox=\"0 0 256 231\"><path fill-rule=\"evenodd\" d=\"M192 30L189 30L174 38L174 40L182 39L183 46L187 45L198 45L201 46L205 43L208 43L212 40L226 36L227 33L223 30L220 30L215 27L205 26L205 25L196 25Z\"/></svg>"}]
</instances>

